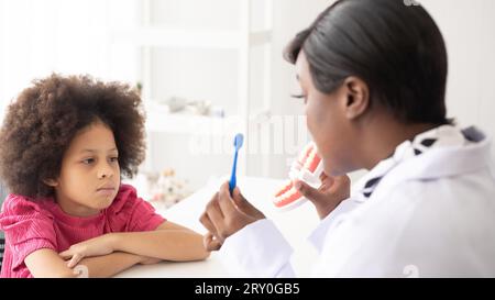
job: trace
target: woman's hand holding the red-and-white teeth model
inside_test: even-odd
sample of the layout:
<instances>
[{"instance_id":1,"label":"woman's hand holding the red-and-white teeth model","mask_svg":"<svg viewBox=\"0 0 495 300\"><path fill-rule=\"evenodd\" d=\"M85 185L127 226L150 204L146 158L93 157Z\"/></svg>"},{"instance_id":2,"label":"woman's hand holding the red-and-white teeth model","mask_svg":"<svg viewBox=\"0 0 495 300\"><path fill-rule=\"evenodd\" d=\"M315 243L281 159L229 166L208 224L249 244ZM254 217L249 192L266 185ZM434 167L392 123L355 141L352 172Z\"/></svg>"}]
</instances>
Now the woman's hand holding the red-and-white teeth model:
<instances>
[{"instance_id":1,"label":"woman's hand holding the red-and-white teeth model","mask_svg":"<svg viewBox=\"0 0 495 300\"><path fill-rule=\"evenodd\" d=\"M351 179L346 175L339 177L320 175L321 186L318 189L298 180L295 187L315 205L320 219L324 219L343 200L351 196Z\"/></svg>"}]
</instances>

